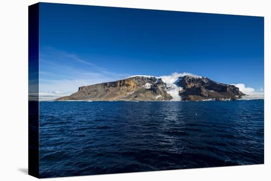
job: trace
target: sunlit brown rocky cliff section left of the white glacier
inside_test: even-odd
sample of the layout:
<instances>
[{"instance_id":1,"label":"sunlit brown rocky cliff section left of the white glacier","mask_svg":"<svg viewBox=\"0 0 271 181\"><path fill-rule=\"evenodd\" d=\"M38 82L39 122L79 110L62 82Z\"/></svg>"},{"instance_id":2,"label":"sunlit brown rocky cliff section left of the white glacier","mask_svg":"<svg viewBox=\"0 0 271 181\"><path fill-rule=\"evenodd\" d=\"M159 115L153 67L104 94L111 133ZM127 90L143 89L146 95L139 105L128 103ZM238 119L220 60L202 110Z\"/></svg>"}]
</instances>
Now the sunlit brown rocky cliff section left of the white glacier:
<instances>
[{"instance_id":1,"label":"sunlit brown rocky cliff section left of the white glacier","mask_svg":"<svg viewBox=\"0 0 271 181\"><path fill-rule=\"evenodd\" d=\"M57 101L162 101L172 97L164 90L165 83L155 76L132 76L125 79L79 87L70 96Z\"/></svg>"}]
</instances>

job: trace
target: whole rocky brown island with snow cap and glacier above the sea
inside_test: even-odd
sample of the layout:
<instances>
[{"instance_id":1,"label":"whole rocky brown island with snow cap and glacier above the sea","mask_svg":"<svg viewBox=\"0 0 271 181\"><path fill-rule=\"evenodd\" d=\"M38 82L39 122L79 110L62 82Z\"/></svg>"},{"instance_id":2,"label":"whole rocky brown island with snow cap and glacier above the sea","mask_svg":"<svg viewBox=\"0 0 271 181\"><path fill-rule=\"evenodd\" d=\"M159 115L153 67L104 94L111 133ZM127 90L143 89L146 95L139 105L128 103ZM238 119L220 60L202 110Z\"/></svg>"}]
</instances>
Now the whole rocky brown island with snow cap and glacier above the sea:
<instances>
[{"instance_id":1,"label":"whole rocky brown island with snow cap and glacier above the sea","mask_svg":"<svg viewBox=\"0 0 271 181\"><path fill-rule=\"evenodd\" d=\"M207 77L185 75L175 82L166 78L135 75L113 82L79 87L78 91L57 101L208 101L236 100L244 96L234 85Z\"/></svg>"}]
</instances>

